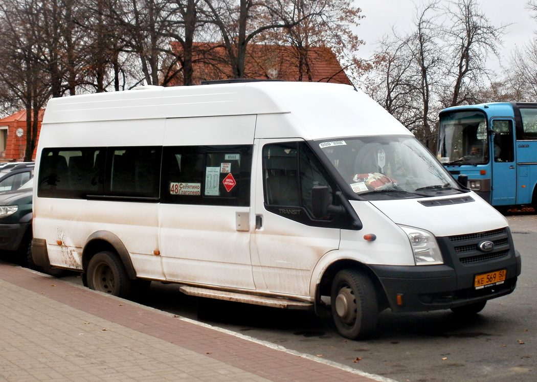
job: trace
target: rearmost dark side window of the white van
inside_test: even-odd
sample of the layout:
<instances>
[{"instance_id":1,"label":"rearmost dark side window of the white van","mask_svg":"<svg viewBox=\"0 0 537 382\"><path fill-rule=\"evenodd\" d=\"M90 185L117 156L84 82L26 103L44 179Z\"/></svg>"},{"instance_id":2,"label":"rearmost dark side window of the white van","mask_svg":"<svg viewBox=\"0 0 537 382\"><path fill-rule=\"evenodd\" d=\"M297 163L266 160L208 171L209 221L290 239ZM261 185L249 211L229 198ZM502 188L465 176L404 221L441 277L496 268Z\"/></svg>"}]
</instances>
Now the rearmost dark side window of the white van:
<instances>
[{"instance_id":1,"label":"rearmost dark side window of the white van","mask_svg":"<svg viewBox=\"0 0 537 382\"><path fill-rule=\"evenodd\" d=\"M105 153L99 147L43 149L38 196L79 199L102 195Z\"/></svg>"}]
</instances>

